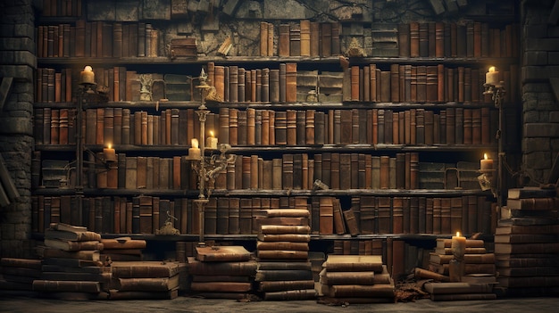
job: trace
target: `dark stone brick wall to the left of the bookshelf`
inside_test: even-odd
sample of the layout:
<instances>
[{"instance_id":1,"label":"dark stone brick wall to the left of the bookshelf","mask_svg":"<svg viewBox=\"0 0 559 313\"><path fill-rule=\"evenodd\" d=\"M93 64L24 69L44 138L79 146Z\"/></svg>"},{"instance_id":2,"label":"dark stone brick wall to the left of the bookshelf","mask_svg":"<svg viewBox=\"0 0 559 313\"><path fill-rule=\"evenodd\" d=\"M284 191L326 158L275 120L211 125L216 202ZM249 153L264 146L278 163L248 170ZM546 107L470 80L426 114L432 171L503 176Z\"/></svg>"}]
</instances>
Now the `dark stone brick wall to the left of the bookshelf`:
<instances>
[{"instance_id":1,"label":"dark stone brick wall to the left of the bookshelf","mask_svg":"<svg viewBox=\"0 0 559 313\"><path fill-rule=\"evenodd\" d=\"M0 78L13 78L0 111L0 152L20 194L0 208L0 256L29 257L35 12L31 0L3 1L0 12Z\"/></svg>"}]
</instances>

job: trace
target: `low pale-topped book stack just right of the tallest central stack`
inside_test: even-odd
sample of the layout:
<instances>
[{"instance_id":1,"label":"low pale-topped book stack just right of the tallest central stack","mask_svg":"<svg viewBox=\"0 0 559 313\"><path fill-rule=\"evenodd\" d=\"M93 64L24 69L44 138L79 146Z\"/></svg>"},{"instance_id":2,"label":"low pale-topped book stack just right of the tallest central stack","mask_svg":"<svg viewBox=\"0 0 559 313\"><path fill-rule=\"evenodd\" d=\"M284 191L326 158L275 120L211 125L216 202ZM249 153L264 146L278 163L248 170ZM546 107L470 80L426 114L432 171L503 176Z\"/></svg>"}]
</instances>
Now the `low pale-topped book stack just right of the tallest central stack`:
<instances>
[{"instance_id":1,"label":"low pale-topped book stack just right of the tallest central stack","mask_svg":"<svg viewBox=\"0 0 559 313\"><path fill-rule=\"evenodd\" d=\"M333 255L322 264L321 302L394 302L395 286L380 255Z\"/></svg>"}]
</instances>

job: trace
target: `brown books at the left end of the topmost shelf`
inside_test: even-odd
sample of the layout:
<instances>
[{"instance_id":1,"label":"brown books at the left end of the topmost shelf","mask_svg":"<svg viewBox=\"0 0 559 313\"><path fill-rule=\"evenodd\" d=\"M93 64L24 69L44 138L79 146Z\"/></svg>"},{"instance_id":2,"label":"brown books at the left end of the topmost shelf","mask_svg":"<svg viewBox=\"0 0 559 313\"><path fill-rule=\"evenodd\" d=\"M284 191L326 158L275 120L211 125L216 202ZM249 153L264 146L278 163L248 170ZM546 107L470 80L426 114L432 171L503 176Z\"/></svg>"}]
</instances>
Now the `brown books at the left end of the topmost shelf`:
<instances>
[{"instance_id":1,"label":"brown books at the left end of the topmost shelf","mask_svg":"<svg viewBox=\"0 0 559 313\"><path fill-rule=\"evenodd\" d=\"M78 20L76 25L39 25L39 58L59 57L156 57L159 30L146 22Z\"/></svg>"}]
</instances>

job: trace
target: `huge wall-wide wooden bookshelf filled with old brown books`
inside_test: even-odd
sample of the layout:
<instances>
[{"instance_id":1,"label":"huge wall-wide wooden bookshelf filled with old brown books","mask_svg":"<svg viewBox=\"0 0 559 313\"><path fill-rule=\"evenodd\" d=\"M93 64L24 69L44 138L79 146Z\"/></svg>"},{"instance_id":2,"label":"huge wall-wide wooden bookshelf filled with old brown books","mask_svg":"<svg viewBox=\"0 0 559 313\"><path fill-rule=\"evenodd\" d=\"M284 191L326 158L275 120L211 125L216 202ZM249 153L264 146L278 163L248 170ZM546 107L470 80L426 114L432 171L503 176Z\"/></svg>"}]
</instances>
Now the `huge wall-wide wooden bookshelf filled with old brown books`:
<instances>
[{"instance_id":1,"label":"huge wall-wide wooden bookshelf filled with old brown books","mask_svg":"<svg viewBox=\"0 0 559 313\"><path fill-rule=\"evenodd\" d=\"M39 34L48 34L48 23L48 19L39 23ZM51 26L60 27L54 21L51 23ZM172 20L165 21L163 26L157 25L161 29L154 31L171 27L172 23ZM431 23L425 23L429 30ZM95 27L105 34L106 24L114 31L119 23L85 21L77 17L64 20L63 24L69 24L68 31L76 34L82 27L90 31ZM124 24L136 28L142 22ZM143 24L145 27L146 23ZM410 31L412 24L415 22L396 29L393 38L398 44L407 40L409 45L414 45L413 33L407 33L407 39L400 36L405 34L402 29L407 27ZM317 242L388 238L432 241L454 234L457 228L467 230L463 231L466 235L492 234L496 224L496 217L491 213L495 201L489 192L480 190L476 177L483 152L492 153L496 159L497 143L492 134L496 133L498 116L490 98L483 95L482 83L490 64L501 70L509 86L518 85L515 79L519 74L519 58L514 49L518 43L513 39L519 30L509 26L513 24L495 26L472 21L462 29L462 24L448 22L442 24L442 30L437 24L445 35L446 27L453 31L460 26L465 34L470 27L473 31L475 25L475 29L480 28L479 34L476 31L480 37L475 35L475 40L471 37L473 41L470 41L470 35L464 35L468 40L463 40L461 46L456 42L451 45L446 37L437 37L436 45L429 42L430 37L418 37L421 42L415 42L420 45L415 52L392 48L387 50L388 55L374 50L368 53L370 56L348 58L339 55L346 53L344 48L351 36L338 34L338 46L331 45L330 54L316 54L316 50L310 50L309 55L300 55L305 54L305 49L300 47L299 55L291 55L291 50L286 54L286 47L280 47L280 44L287 45L284 41L280 43L285 40L281 37L285 36L280 28L283 24L270 25L280 32L280 37L274 37L272 42L272 46L278 43L278 49L270 52L268 43L265 54L246 56L170 57L161 45L163 40L152 41L160 45L149 50L145 37L141 45L146 49L143 54L146 56L136 56L140 55L136 51L134 56L121 52L115 57L99 47L94 56L92 41L88 44L88 40L83 39L83 47L89 48L89 53L85 50L66 53L63 48L59 49L63 51L62 56L56 57L54 51L49 50L54 47L49 48L48 35L46 40L40 40L34 159L38 179L33 191L33 231L40 234L48 225L47 221L58 218L71 224L93 226L91 230L104 236L195 242L200 225L196 223L193 200L198 193L196 175L187 158L188 149L191 138L207 137L213 130L220 143L231 144L229 152L236 154L238 161L222 171L213 186L210 210L206 211L209 216L205 218L205 223L213 224L204 226L206 231L209 229L204 234L209 240L254 241L253 223L259 210L294 206L313 212L312 240ZM62 26L63 31L66 28ZM267 31L269 33L270 29ZM88 33L83 34L87 36ZM416 35L423 36L422 33ZM480 44L497 41L496 37L506 47ZM426 48L424 39L429 39L428 43L434 48L430 45ZM75 40L81 39L76 37ZM365 40L362 43L364 45ZM139 42L135 44L140 45ZM62 46L66 47L65 42ZM121 43L120 47L124 46ZM283 49L281 53L279 49ZM294 49L296 51L296 47ZM363 48L367 49L371 47ZM116 54L114 50L112 53ZM84 65L94 68L98 85L109 88L106 101L88 102L82 111L76 111L74 90L79 70ZM195 113L200 99L196 95L194 78L201 68L208 71L223 100L207 103L210 114L205 134L199 132ZM279 75L281 79L282 70L287 68L295 69L291 78L282 81L272 78L272 75ZM120 74L115 74L117 71ZM245 80L239 78L241 72ZM258 83L256 79L253 83L246 78L249 72L259 79L263 79L265 72L269 75L268 84L262 80ZM225 73L229 76L220 78L219 75ZM153 98L168 100L140 100L142 84L138 77L144 74L152 75L150 92ZM379 80L374 84L373 76ZM321 82L330 85L321 85ZM243 83L245 89L241 90L239 85ZM282 84L291 91L282 89ZM266 94L263 88L270 92ZM505 103L517 100L518 95L514 93L505 95ZM53 111L57 111L58 120L53 119ZM86 165L83 188L76 187L75 177L69 177L68 185L64 186L49 187L42 183L46 173L51 171L43 166L44 161L73 161L75 158L75 137L62 142L60 135L58 141L52 137L64 130L70 131L69 135L71 129L77 133L75 128L63 125L62 111L73 112L71 120L74 122L81 119L80 131L88 150L99 153L106 144L113 144L119 164L113 178L116 181L99 175L92 177ZM134 123L129 122L128 137L122 135L124 128L119 129L124 126L124 119L118 124L114 119L123 113L134 120ZM271 116L275 116L273 127ZM110 117L113 117L113 129L100 128L100 125L107 125L104 122ZM264 121L266 118L268 120ZM138 132L138 127L142 131ZM512 139L505 140L508 140L506 144L513 144ZM128 167L129 163L136 163L137 168ZM138 183L140 163L145 167L142 175L146 175L142 183ZM149 164L151 169L148 169ZM136 182L129 181L132 173L136 173ZM104 185L100 187L101 179ZM313 185L316 179L329 189L317 189ZM358 218L367 222L363 222L357 235L350 235L348 230L336 232L333 214L321 208L321 198L338 199L342 211L353 210ZM142 201L149 203L146 207L152 210L142 207ZM72 214L72 206L63 207L75 202L82 202L82 211ZM248 210L241 210L243 208ZM321 209L322 215L328 218L321 219ZM177 218L175 227L181 235L154 235L155 229L163 225L167 210ZM48 218L46 214L50 214ZM151 223L144 222L150 218ZM239 223L245 222L251 227L229 229L220 224L228 218L237 218ZM321 232L321 223L330 224L331 230Z\"/></svg>"}]
</instances>

